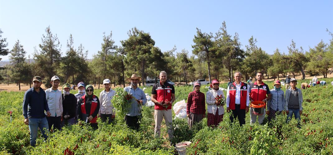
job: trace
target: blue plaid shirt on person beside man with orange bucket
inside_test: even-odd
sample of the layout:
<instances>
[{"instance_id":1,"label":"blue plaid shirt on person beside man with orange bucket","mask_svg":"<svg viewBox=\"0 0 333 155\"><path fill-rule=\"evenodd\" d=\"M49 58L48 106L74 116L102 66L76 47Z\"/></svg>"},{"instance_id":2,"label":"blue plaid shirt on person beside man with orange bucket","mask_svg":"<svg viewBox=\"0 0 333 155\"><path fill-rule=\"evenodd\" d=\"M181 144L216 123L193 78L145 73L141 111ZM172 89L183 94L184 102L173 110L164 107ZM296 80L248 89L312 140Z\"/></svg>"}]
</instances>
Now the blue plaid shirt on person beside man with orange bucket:
<instances>
[{"instance_id":1,"label":"blue plaid shirt on person beside man with orange bucket","mask_svg":"<svg viewBox=\"0 0 333 155\"><path fill-rule=\"evenodd\" d=\"M270 109L274 111L283 111L284 110L284 92L283 90L271 89L270 93L272 98L267 101L267 111Z\"/></svg>"}]
</instances>

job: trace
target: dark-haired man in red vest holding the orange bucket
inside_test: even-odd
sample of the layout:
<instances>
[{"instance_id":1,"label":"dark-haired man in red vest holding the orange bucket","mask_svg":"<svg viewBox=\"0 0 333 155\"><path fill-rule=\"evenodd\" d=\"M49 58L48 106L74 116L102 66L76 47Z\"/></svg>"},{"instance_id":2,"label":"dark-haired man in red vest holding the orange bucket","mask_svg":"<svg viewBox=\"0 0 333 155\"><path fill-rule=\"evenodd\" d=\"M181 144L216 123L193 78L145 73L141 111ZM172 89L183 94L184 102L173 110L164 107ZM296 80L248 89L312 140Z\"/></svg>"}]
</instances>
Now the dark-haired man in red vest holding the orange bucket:
<instances>
[{"instance_id":1,"label":"dark-haired man in red vest holding the orange bucket","mask_svg":"<svg viewBox=\"0 0 333 155\"><path fill-rule=\"evenodd\" d=\"M272 94L270 94L268 85L265 84L262 79L264 78L264 74L262 72L258 72L256 75L257 81L252 83L249 87L249 95L251 102L253 101L262 101L266 103L268 100L272 98ZM266 108L264 110L264 114L258 116L258 123L262 124L266 115ZM257 115L252 114L252 107L250 108L250 123L253 124L257 121Z\"/></svg>"}]
</instances>

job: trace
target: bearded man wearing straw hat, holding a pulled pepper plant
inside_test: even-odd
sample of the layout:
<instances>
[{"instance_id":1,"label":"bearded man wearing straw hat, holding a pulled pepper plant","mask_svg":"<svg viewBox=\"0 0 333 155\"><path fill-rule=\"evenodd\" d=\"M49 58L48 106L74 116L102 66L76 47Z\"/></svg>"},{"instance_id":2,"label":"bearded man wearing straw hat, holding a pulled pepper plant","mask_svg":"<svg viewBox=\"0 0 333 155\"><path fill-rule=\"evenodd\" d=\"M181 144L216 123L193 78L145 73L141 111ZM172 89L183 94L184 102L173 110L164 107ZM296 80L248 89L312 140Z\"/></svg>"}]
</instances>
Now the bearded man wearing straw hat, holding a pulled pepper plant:
<instances>
[{"instance_id":1,"label":"bearded man wearing straw hat, holding a pulled pepper plant","mask_svg":"<svg viewBox=\"0 0 333 155\"><path fill-rule=\"evenodd\" d=\"M140 119L142 118L142 105L145 105L147 102L145 92L138 87L138 83L141 80L141 77L138 77L137 74L132 74L131 78L127 79L128 82L131 82L131 85L124 88L126 92L130 93L135 98L131 99L131 108L125 115L125 122L128 127L137 131L139 130Z\"/></svg>"}]
</instances>

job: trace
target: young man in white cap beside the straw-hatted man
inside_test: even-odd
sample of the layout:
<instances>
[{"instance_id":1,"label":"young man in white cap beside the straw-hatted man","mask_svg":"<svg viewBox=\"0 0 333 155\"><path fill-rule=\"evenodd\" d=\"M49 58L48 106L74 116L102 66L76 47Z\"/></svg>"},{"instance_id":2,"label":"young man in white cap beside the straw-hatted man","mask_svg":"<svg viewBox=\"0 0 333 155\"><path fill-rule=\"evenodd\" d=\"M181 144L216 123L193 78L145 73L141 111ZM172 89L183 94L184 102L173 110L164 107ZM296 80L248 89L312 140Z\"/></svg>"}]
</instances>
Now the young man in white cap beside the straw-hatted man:
<instances>
[{"instance_id":1,"label":"young man in white cap beside the straw-hatted man","mask_svg":"<svg viewBox=\"0 0 333 155\"><path fill-rule=\"evenodd\" d=\"M108 123L110 124L116 117L116 111L111 103L111 99L115 96L116 91L110 88L111 82L109 79L105 79L103 85L105 90L100 93L100 111L98 115L101 116L103 122L106 122L108 119Z\"/></svg>"}]
</instances>

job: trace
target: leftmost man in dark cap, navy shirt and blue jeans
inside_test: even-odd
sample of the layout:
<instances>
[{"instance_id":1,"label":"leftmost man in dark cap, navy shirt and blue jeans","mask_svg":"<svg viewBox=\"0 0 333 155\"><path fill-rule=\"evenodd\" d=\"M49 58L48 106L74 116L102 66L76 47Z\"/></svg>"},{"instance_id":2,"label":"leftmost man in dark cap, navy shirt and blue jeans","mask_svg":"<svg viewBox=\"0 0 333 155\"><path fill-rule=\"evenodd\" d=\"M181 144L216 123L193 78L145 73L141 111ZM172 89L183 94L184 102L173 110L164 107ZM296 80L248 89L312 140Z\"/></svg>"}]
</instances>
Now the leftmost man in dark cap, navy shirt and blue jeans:
<instances>
[{"instance_id":1,"label":"leftmost man in dark cap, navy shirt and blue jeans","mask_svg":"<svg viewBox=\"0 0 333 155\"><path fill-rule=\"evenodd\" d=\"M30 145L36 145L38 128L42 131L42 135L46 140L49 131L49 125L45 116L51 115L46 100L46 94L42 88L42 78L35 76L32 80L33 87L24 93L23 97L23 116L24 123L29 125ZM46 111L46 115L44 114Z\"/></svg>"}]
</instances>

